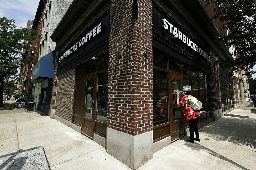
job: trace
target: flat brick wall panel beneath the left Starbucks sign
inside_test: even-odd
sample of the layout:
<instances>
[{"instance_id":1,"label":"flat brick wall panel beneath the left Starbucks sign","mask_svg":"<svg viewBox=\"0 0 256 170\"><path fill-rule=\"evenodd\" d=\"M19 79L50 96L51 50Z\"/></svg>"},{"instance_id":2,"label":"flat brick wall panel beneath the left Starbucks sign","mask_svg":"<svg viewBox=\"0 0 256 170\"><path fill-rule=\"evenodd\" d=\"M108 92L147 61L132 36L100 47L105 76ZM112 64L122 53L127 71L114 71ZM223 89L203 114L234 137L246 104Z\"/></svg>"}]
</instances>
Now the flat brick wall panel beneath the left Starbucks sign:
<instances>
[{"instance_id":1,"label":"flat brick wall panel beneath the left Starbucks sign","mask_svg":"<svg viewBox=\"0 0 256 170\"><path fill-rule=\"evenodd\" d=\"M76 69L73 67L68 71L60 73L57 81L55 115L70 122L73 121L75 73Z\"/></svg>"}]
</instances>

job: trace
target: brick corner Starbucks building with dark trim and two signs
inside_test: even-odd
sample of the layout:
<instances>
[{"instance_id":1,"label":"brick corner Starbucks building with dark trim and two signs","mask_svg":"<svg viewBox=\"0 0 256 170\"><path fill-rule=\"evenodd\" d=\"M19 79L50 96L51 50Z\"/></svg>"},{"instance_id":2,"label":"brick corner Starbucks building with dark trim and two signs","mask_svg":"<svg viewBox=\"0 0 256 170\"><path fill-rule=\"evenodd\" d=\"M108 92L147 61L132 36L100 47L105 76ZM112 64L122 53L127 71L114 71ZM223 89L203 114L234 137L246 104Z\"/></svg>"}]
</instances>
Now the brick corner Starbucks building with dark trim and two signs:
<instances>
[{"instance_id":1,"label":"brick corner Starbucks building with dark trim and two signs","mask_svg":"<svg viewBox=\"0 0 256 170\"><path fill-rule=\"evenodd\" d=\"M74 0L51 35L50 116L136 169L189 133L176 91L202 101L199 127L222 117L224 87L232 105L219 35L200 1Z\"/></svg>"}]
</instances>

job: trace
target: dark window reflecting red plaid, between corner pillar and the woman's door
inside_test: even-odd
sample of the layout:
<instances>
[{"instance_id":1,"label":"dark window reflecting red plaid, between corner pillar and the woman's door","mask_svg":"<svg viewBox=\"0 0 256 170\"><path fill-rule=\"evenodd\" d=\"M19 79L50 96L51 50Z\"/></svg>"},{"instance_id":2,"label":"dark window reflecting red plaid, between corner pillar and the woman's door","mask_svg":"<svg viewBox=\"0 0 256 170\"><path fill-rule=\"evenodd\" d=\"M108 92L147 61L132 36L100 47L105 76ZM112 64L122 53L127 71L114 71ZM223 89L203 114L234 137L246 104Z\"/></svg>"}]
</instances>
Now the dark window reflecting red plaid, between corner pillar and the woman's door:
<instances>
[{"instance_id":1,"label":"dark window reflecting red plaid, between corner pillar and the woman's door","mask_svg":"<svg viewBox=\"0 0 256 170\"><path fill-rule=\"evenodd\" d=\"M153 69L153 125L168 120L168 73Z\"/></svg>"}]
</instances>

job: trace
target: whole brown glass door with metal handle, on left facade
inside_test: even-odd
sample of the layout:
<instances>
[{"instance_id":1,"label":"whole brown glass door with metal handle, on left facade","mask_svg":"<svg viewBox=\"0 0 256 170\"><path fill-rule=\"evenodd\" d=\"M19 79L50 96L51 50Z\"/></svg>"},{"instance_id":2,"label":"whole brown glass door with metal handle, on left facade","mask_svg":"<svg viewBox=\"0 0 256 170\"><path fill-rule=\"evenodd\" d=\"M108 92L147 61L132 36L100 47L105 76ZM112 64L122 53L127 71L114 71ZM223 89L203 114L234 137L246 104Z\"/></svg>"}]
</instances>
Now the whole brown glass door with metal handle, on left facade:
<instances>
[{"instance_id":1,"label":"whole brown glass door with metal handle, on left facade","mask_svg":"<svg viewBox=\"0 0 256 170\"><path fill-rule=\"evenodd\" d=\"M84 78L84 116L82 133L93 138L94 133L94 120L95 120L95 105L96 105L96 79L95 75L87 76Z\"/></svg>"}]
</instances>

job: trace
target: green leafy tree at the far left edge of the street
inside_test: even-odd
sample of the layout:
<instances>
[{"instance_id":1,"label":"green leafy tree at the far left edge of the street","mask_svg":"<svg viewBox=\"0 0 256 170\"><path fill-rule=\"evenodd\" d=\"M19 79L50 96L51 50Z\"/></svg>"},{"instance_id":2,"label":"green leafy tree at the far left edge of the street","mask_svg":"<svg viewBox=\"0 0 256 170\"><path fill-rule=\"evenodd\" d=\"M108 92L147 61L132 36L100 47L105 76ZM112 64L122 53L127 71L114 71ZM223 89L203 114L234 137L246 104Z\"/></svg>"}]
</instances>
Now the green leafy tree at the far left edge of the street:
<instances>
[{"instance_id":1,"label":"green leafy tree at the far left edge of the street","mask_svg":"<svg viewBox=\"0 0 256 170\"><path fill-rule=\"evenodd\" d=\"M36 30L16 29L14 23L13 19L0 18L0 107L4 106L4 78L15 75L20 63L26 62L22 57L22 50L31 47L24 40L33 40L40 35Z\"/></svg>"}]
</instances>

